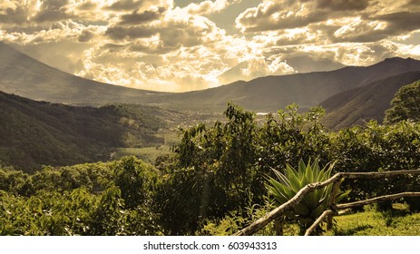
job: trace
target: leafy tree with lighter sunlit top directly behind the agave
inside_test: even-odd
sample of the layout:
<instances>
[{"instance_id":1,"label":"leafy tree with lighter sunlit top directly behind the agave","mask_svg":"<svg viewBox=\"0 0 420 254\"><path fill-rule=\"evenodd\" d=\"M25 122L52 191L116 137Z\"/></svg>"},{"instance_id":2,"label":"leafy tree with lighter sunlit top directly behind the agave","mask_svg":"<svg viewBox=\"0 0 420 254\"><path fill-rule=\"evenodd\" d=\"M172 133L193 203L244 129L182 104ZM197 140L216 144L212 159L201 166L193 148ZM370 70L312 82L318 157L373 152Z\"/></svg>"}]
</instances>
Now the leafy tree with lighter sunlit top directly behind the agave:
<instances>
[{"instance_id":1,"label":"leafy tree with lighter sunlit top directly behind the agave","mask_svg":"<svg viewBox=\"0 0 420 254\"><path fill-rule=\"evenodd\" d=\"M277 115L269 114L259 132L259 165L263 171L269 173L270 168L285 164L296 167L302 158L330 161L329 134L320 122L324 114L322 108L299 113L296 104Z\"/></svg>"}]
</instances>

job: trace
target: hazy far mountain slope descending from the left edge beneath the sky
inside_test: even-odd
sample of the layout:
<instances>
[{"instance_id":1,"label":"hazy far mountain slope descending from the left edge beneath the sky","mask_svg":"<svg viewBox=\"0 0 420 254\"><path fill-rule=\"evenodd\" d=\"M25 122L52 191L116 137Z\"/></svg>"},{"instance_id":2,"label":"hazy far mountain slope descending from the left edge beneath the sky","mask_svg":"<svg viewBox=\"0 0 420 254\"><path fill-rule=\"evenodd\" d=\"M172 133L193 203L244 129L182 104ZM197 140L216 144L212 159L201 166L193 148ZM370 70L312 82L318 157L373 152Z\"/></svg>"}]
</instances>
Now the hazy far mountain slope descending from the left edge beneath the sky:
<instances>
[{"instance_id":1,"label":"hazy far mountain slope descending from the left edge beneath the sky","mask_svg":"<svg viewBox=\"0 0 420 254\"><path fill-rule=\"evenodd\" d=\"M37 101L75 105L142 103L148 95L155 94L64 73L2 42L0 57L0 91Z\"/></svg>"}]
</instances>

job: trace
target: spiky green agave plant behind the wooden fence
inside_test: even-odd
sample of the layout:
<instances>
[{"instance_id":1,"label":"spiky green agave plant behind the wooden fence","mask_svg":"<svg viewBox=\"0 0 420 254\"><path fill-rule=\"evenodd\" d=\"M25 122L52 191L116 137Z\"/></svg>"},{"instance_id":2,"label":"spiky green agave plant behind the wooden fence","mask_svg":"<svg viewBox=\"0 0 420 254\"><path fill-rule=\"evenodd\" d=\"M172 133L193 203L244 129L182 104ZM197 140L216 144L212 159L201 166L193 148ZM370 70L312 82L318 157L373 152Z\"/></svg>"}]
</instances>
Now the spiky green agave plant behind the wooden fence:
<instances>
[{"instance_id":1,"label":"spiky green agave plant behind the wooden fence","mask_svg":"<svg viewBox=\"0 0 420 254\"><path fill-rule=\"evenodd\" d=\"M318 160L313 163L308 161L308 165L300 160L298 170L290 165L287 165L283 172L273 169L277 179L267 177L268 183L266 186L269 189L269 194L274 197L275 205L281 205L292 199L307 184L329 179L333 168L334 163L329 163L321 169ZM347 196L348 192L338 194L336 200L341 200ZM304 231L317 220L324 210L327 210L331 195L332 184L309 192L294 207L294 210L286 212L286 216L290 220L298 220L300 230Z\"/></svg>"}]
</instances>

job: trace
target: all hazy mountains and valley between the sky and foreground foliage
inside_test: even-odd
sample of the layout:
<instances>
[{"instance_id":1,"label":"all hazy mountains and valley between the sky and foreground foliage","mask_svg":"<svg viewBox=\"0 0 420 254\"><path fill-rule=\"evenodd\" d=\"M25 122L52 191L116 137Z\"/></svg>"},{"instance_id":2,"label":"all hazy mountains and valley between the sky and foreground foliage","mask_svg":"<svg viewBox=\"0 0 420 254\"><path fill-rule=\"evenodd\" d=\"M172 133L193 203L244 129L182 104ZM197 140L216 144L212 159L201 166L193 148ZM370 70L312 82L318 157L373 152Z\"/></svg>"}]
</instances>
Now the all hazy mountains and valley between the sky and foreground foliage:
<instances>
[{"instance_id":1,"label":"all hazy mountains and valley between the sky and foreground foliage","mask_svg":"<svg viewBox=\"0 0 420 254\"><path fill-rule=\"evenodd\" d=\"M322 106L327 111L323 123L334 130L382 122L396 92L420 80L420 61L394 57L370 66L161 93L64 73L4 43L0 54L0 156L6 165L31 169L44 163L106 161L112 154L142 155L147 147L161 147L146 150L156 158L176 143L180 126L222 120L228 103L253 112L277 112L291 103L304 112Z\"/></svg>"}]
</instances>

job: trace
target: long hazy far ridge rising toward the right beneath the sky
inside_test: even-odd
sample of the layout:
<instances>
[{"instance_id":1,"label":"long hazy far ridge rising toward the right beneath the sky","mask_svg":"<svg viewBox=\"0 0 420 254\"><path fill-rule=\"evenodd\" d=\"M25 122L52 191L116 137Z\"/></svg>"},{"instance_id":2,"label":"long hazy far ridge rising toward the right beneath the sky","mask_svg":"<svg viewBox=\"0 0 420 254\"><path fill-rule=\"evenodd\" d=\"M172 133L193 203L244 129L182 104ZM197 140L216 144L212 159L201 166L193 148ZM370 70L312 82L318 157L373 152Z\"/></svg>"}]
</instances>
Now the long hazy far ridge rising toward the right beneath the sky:
<instances>
[{"instance_id":1,"label":"long hazy far ridge rising toward the right beneath the sky","mask_svg":"<svg viewBox=\"0 0 420 254\"><path fill-rule=\"evenodd\" d=\"M203 91L168 94L167 104L217 107L238 103L249 110L277 111L290 103L312 107L337 93L401 73L420 71L420 61L390 58L366 67L345 67L336 71L267 76L249 82L239 81ZM164 104L162 104L164 105Z\"/></svg>"}]
</instances>

